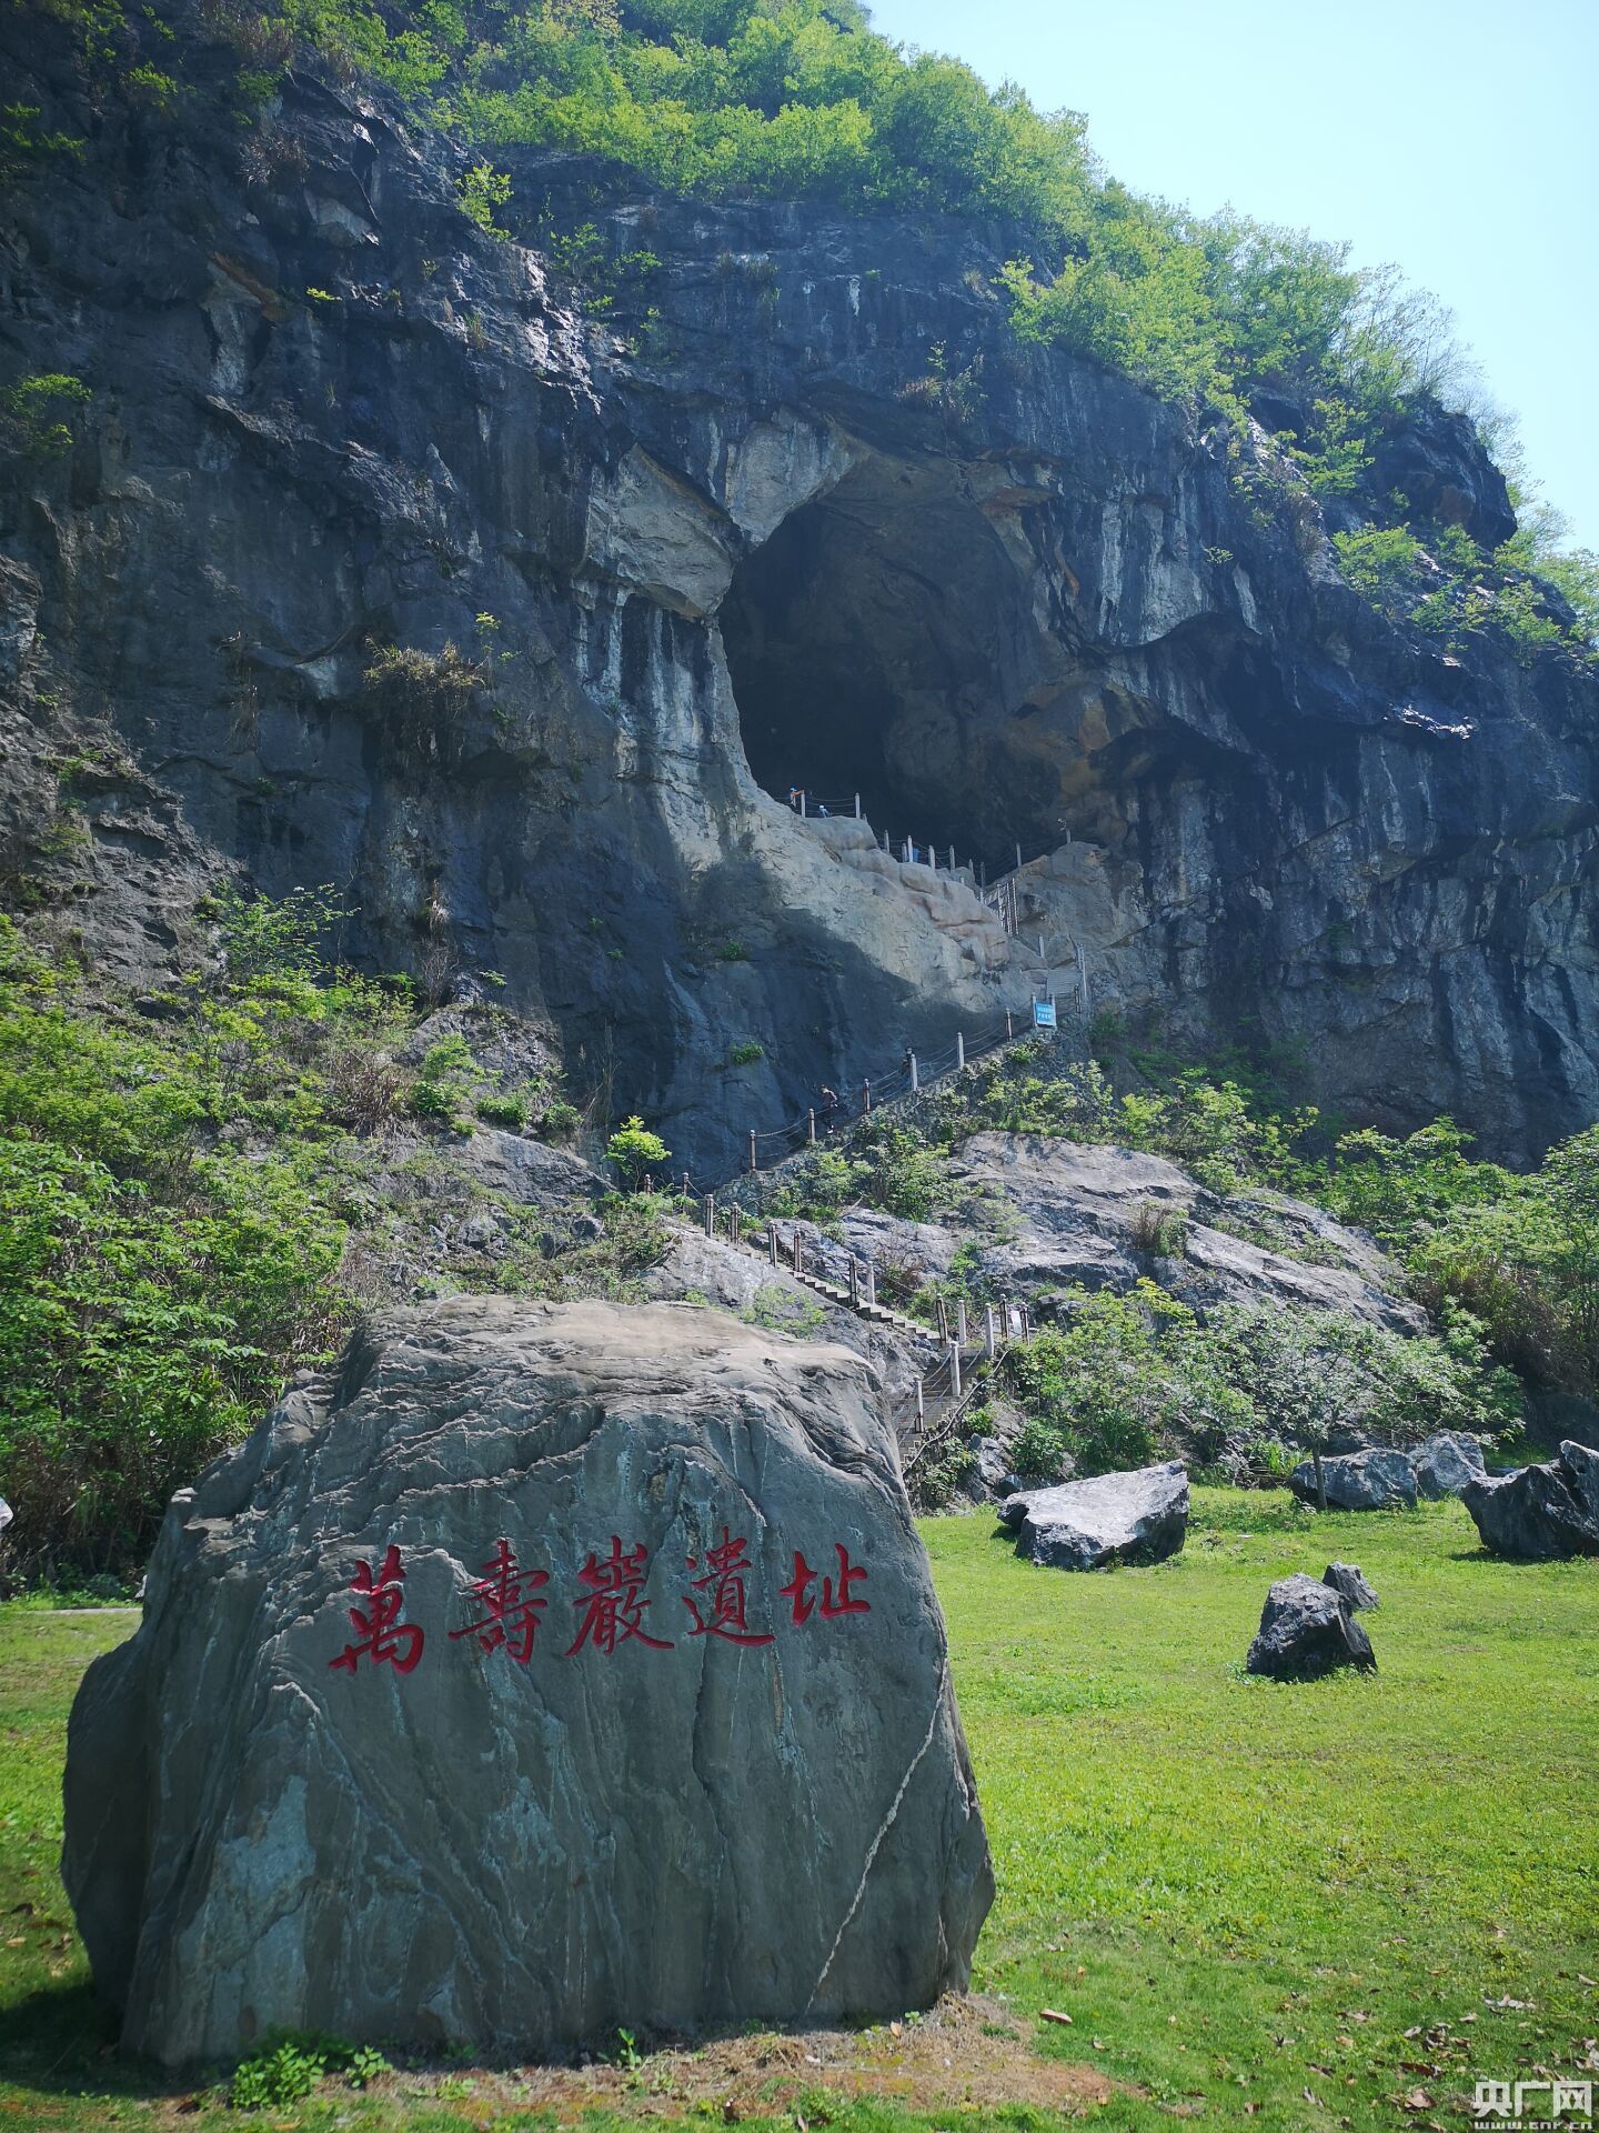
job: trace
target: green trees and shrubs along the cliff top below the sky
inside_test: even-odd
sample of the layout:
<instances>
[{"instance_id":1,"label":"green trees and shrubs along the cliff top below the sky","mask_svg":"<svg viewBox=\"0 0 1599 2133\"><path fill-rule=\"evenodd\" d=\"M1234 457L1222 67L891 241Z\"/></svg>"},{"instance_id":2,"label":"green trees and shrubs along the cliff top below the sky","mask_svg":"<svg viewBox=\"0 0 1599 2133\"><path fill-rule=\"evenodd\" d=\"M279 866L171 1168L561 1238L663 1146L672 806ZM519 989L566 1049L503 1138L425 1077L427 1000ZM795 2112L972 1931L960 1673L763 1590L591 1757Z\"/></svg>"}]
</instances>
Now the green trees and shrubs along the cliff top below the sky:
<instances>
[{"instance_id":1,"label":"green trees and shrubs along the cliff top below the sky","mask_svg":"<svg viewBox=\"0 0 1599 2133\"><path fill-rule=\"evenodd\" d=\"M181 122L188 32L158 9L28 4L68 23L85 68L115 77L147 117ZM595 316L612 305L610 279L637 290L659 260L608 262L595 224L574 228L569 209L552 209L548 162L514 181L495 158L550 151L697 198L983 218L1015 252L1000 284L1021 341L1089 356L1226 418L1234 444L1251 397L1271 395L1309 491L1379 533L1405 531L1403 499L1369 482L1382 435L1431 399L1471 397L1448 314L1396 269L1356 269L1347 245L1305 230L1143 198L1104 173L1081 113L1043 113L1015 83L989 90L957 60L898 47L855 0L228 0L207 23L230 51L228 98L264 166L273 98L296 53L375 79L469 151L461 211L488 235L537 243L588 286ZM34 107L6 111L0 147L11 143L13 173L81 154L83 143L41 132ZM642 301L640 316L648 339L659 309ZM944 399L974 390L968 371L942 380ZM1234 480L1260 488L1243 456ZM1558 518L1531 495L1518 503L1520 533L1495 557L1473 550L1465 570L1448 565L1448 582L1409 589L1416 627L1501 629L1527 659L1595 640L1599 561L1565 552ZM1431 529L1416 533L1431 544ZM1352 582L1367 589L1358 570Z\"/></svg>"}]
</instances>

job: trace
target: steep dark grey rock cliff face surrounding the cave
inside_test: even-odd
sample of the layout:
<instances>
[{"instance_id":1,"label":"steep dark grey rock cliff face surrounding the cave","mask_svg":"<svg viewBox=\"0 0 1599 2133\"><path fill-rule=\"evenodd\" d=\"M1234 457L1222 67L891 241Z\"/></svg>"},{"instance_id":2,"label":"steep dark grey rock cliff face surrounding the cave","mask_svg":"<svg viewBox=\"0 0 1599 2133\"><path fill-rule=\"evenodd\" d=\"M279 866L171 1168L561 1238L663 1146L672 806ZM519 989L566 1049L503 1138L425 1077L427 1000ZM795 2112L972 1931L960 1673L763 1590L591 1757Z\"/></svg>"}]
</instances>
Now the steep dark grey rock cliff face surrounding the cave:
<instances>
[{"instance_id":1,"label":"steep dark grey rock cliff face surrounding the cave","mask_svg":"<svg viewBox=\"0 0 1599 2133\"><path fill-rule=\"evenodd\" d=\"M1356 1113L1520 1156L1599 1111L1593 680L1396 634L1264 429L1019 348L1011 232L529 154L497 241L360 90L75 109L51 34L13 13L0 55L92 154L15 190L0 331L94 399L4 467L6 864L102 956L181 960L220 857L335 881L356 953L503 979L712 1173L1079 947L1094 1007L1303 1039ZM584 220L633 256L605 316L539 235ZM1463 422L1377 471L1509 529ZM49 813L85 732L90 843ZM1019 845L1032 956L791 783L989 872Z\"/></svg>"}]
</instances>

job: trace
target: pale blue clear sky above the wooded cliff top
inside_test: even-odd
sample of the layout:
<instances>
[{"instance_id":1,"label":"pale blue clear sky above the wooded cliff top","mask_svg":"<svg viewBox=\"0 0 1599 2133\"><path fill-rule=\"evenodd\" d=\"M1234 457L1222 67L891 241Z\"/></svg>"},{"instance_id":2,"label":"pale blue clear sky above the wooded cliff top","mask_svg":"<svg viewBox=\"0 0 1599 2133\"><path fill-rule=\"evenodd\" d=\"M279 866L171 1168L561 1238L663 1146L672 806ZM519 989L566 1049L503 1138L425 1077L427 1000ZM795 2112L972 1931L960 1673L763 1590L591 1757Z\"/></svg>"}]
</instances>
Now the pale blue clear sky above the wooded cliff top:
<instances>
[{"instance_id":1,"label":"pale blue clear sky above the wooded cliff top","mask_svg":"<svg viewBox=\"0 0 1599 2133\"><path fill-rule=\"evenodd\" d=\"M1599 0L874 0L872 26L1085 111L1138 192L1396 260L1599 548Z\"/></svg>"}]
</instances>

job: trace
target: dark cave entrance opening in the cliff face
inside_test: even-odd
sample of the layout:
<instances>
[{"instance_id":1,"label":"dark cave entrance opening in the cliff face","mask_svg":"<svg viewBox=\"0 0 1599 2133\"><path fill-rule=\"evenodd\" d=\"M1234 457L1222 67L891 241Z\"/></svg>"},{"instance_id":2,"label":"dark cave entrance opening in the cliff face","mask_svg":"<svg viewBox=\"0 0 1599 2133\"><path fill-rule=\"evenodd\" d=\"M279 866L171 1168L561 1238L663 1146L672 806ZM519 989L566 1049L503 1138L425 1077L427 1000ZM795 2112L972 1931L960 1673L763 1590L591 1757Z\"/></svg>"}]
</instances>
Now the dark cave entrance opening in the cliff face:
<instances>
[{"instance_id":1,"label":"dark cave entrance opening in the cliff face","mask_svg":"<svg viewBox=\"0 0 1599 2133\"><path fill-rule=\"evenodd\" d=\"M953 845L994 872L1017 840L1040 849L1028 781L1004 774L1040 634L955 463L866 459L738 565L721 631L765 791L834 813L859 793L895 849Z\"/></svg>"}]
</instances>

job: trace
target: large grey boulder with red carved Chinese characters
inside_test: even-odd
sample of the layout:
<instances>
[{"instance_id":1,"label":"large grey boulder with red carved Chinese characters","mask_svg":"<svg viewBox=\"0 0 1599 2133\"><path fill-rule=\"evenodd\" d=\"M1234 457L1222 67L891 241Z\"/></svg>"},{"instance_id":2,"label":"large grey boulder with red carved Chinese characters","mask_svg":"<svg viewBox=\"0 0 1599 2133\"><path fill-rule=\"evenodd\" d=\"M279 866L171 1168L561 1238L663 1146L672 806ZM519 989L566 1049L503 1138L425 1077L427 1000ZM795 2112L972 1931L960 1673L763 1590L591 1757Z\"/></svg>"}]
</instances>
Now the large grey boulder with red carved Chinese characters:
<instances>
[{"instance_id":1,"label":"large grey boulder with red carved Chinese characters","mask_svg":"<svg viewBox=\"0 0 1599 2133\"><path fill-rule=\"evenodd\" d=\"M168 2065L962 1988L994 1879L872 1367L674 1305L379 1318L173 1499L64 1875Z\"/></svg>"}]
</instances>

